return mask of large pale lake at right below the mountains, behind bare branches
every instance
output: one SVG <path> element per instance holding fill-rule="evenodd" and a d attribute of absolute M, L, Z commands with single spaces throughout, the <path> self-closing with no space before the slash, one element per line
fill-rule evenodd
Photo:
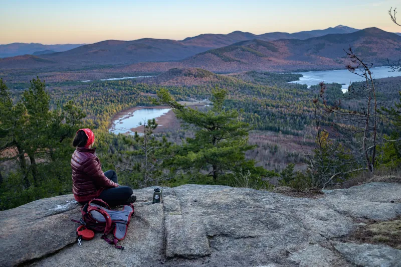
<path fill-rule="evenodd" d="M 387 67 L 371 68 L 370 71 L 372 72 L 374 79 L 401 76 L 401 72 L 390 72 L 390 69 Z M 322 81 L 325 83 L 336 82 L 341 84 L 343 92 L 347 91 L 350 83 L 363 81 L 362 77 L 353 74 L 346 69 L 297 72 L 297 74 L 302 74 L 303 77 L 299 78 L 299 81 L 292 81 L 290 83 L 306 84 L 309 88 L 311 85 L 317 85 Z"/>

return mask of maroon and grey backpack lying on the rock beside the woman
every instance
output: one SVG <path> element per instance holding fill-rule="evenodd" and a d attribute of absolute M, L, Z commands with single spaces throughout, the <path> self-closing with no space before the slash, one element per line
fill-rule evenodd
<path fill-rule="evenodd" d="M 128 225 L 134 213 L 133 204 L 125 205 L 123 210 L 111 210 L 103 200 L 92 199 L 81 208 L 81 212 L 81 220 L 72 221 L 80 223 L 93 231 L 103 232 L 102 239 L 109 244 L 114 244 L 118 249 L 124 249 L 123 246 L 118 246 L 117 242 L 123 240 L 127 234 Z M 112 230 L 114 230 L 113 241 L 107 238 L 107 235 Z"/>

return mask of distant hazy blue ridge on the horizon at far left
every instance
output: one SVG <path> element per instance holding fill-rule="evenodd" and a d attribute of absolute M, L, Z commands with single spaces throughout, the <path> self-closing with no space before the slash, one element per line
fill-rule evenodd
<path fill-rule="evenodd" d="M 66 44 L 66 45 L 42 45 L 42 44 L 25 44 L 13 43 L 8 45 L 0 45 L 0 58 L 14 57 L 20 55 L 32 55 L 38 51 L 52 50 L 55 52 L 64 52 L 82 44 Z"/>

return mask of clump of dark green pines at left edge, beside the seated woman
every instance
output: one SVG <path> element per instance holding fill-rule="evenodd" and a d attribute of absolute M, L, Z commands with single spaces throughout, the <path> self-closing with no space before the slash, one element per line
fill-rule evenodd
<path fill-rule="evenodd" d="M 85 114 L 73 102 L 51 109 L 45 89 L 33 79 L 14 103 L 0 79 L 0 162 L 20 166 L 3 175 L 0 209 L 71 192 L 71 139 Z"/>

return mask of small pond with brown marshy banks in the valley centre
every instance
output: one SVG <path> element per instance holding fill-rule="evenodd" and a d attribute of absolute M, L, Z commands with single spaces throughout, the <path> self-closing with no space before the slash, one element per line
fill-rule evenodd
<path fill-rule="evenodd" d="M 118 133 L 134 135 L 134 131 L 131 130 L 132 128 L 140 126 L 140 123 L 143 124 L 148 119 L 156 118 L 157 120 L 158 117 L 166 114 L 168 111 L 170 111 L 170 108 L 141 108 L 128 112 L 113 120 L 109 132 L 116 135 Z"/>

